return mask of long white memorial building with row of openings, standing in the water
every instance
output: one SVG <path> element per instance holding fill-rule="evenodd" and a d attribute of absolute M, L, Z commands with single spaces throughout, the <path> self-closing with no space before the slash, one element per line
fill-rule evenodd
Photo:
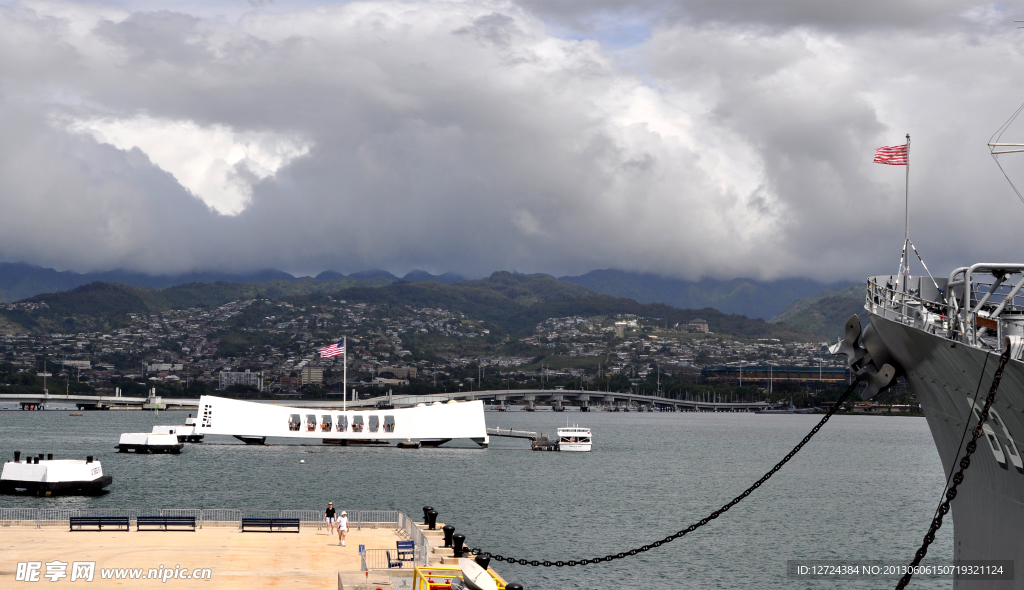
<path fill-rule="evenodd" d="M 263 444 L 268 436 L 335 445 L 419 440 L 424 447 L 469 438 L 484 449 L 490 441 L 480 401 L 434 402 L 389 410 L 329 410 L 203 395 L 199 411 L 199 434 L 234 436 L 250 445 Z"/>

